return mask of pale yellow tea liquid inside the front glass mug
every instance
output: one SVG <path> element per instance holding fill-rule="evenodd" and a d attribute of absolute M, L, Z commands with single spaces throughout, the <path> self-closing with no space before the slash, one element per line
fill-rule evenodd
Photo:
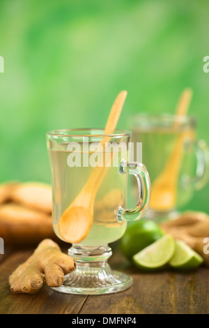
<path fill-rule="evenodd" d="M 68 166 L 69 155 L 72 152 L 67 151 L 66 144 L 59 144 L 56 149 L 49 150 L 49 157 L 52 162 L 54 177 L 52 181 L 53 186 L 53 226 L 54 231 L 60 239 L 59 234 L 59 219 L 61 215 L 68 208 L 68 206 L 75 200 L 77 195 L 82 191 L 90 176 L 93 167 L 83 166 L 85 156 L 89 160 L 92 153 L 82 152 L 76 156 L 81 156 L 81 166 Z M 123 151 L 118 151 L 112 154 L 117 162 L 114 167 L 108 168 L 107 174 L 102 181 L 102 184 L 95 197 L 93 209 L 93 224 L 87 237 L 79 242 L 83 246 L 101 246 L 109 244 L 117 239 L 120 239 L 125 232 L 127 223 L 118 223 L 116 214 L 118 207 L 126 208 L 127 199 L 127 174 L 119 172 L 119 166 L 125 154 Z"/>

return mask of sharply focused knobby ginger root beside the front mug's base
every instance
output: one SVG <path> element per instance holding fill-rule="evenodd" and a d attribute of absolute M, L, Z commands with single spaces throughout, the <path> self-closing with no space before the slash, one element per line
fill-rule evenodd
<path fill-rule="evenodd" d="M 49 287 L 59 287 L 64 275 L 73 270 L 74 260 L 62 253 L 54 241 L 44 239 L 30 258 L 10 275 L 10 290 L 14 293 L 35 294 L 44 282 Z"/>

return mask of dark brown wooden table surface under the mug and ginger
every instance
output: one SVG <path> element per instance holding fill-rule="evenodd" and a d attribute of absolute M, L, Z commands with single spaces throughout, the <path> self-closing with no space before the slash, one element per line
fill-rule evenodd
<path fill-rule="evenodd" d="M 66 251 L 66 250 L 63 250 Z M 31 251 L 6 250 L 0 255 L 0 313 L 141 314 L 209 313 L 209 269 L 193 273 L 162 271 L 141 273 L 114 251 L 109 264 L 130 274 L 134 283 L 124 292 L 110 295 L 69 295 L 44 286 L 35 295 L 13 295 L 8 276 Z"/>

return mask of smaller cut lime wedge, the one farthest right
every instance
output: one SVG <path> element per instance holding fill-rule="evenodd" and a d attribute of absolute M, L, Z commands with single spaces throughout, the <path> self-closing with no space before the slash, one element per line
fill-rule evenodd
<path fill-rule="evenodd" d="M 175 269 L 192 270 L 203 263 L 201 255 L 193 251 L 184 241 L 176 240 L 176 250 L 169 265 Z"/>

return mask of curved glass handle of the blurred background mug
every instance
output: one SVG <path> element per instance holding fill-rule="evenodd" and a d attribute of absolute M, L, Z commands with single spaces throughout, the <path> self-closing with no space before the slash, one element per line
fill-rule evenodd
<path fill-rule="evenodd" d="M 196 154 L 196 176 L 184 177 L 183 183 L 186 186 L 193 186 L 196 190 L 203 188 L 209 177 L 209 150 L 205 140 L 193 141 L 194 152 Z"/>

